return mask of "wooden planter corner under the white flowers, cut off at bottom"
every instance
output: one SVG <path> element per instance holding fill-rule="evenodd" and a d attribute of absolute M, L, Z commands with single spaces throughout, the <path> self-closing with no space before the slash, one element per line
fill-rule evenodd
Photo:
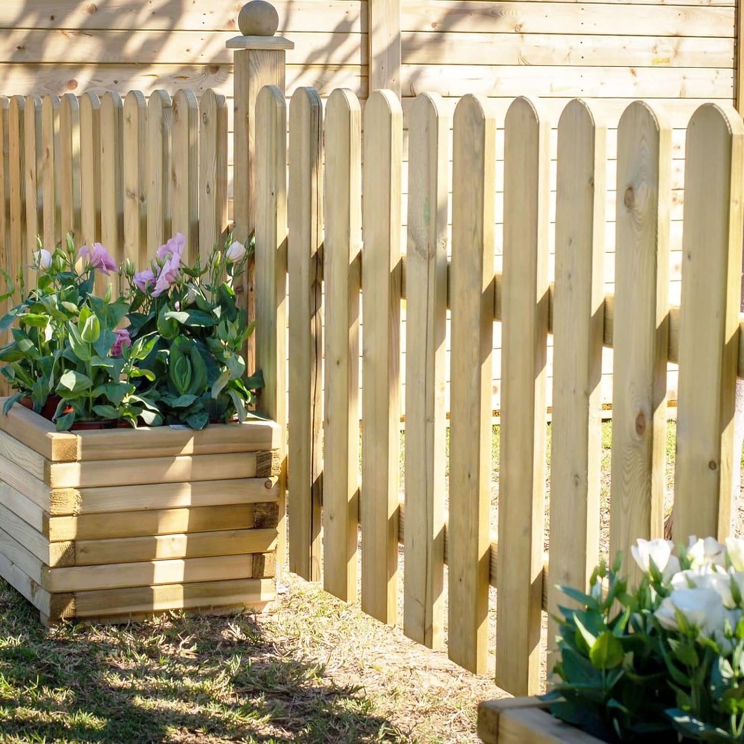
<path fill-rule="evenodd" d="M 486 744 L 606 744 L 554 718 L 534 697 L 481 702 L 478 737 Z"/>

